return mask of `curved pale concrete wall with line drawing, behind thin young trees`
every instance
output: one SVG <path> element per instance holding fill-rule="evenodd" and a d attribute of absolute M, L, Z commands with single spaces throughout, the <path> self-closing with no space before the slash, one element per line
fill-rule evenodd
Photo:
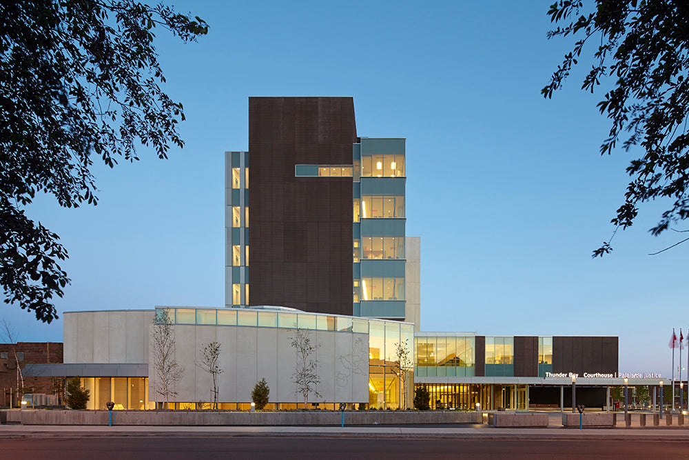
<path fill-rule="evenodd" d="M 154 326 L 149 326 L 153 328 Z M 369 399 L 369 336 L 352 332 L 310 330 L 318 344 L 320 397 L 311 394 L 309 402 L 367 402 Z M 197 366 L 200 350 L 207 343 L 220 343 L 218 401 L 250 402 L 256 382 L 265 378 L 271 403 L 300 403 L 292 375 L 296 370 L 296 351 L 290 344 L 294 330 L 242 326 L 174 326 L 175 357 L 185 368 L 171 401 L 209 401 L 212 378 Z M 156 372 L 149 361 L 149 394 L 156 394 Z M 159 398 L 160 399 L 160 398 Z"/>

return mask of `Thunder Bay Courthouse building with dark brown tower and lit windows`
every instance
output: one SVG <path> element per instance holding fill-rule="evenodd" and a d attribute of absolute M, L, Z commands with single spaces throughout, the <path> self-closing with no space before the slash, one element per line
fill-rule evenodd
<path fill-rule="evenodd" d="M 582 398 L 604 404 L 621 379 L 583 376 L 617 377 L 617 337 L 420 332 L 406 154 L 405 139 L 358 135 L 351 97 L 249 98 L 249 149 L 225 153 L 225 306 L 156 307 L 169 312 L 185 368 L 172 408 L 211 399 L 210 376 L 196 366 L 210 342 L 221 346 L 222 408 L 248 408 L 262 378 L 270 408 L 295 408 L 298 329 L 318 345 L 309 402 L 319 408 L 410 408 L 414 386 L 451 409 L 562 403 L 571 381 L 546 372 L 579 374 L 590 388 Z M 154 317 L 153 309 L 67 312 L 64 364 L 39 371 L 80 376 L 91 408 L 153 408 L 162 401 Z"/>

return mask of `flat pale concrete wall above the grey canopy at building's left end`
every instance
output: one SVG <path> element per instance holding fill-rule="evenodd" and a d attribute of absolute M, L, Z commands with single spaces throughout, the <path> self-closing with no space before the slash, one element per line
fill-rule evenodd
<path fill-rule="evenodd" d="M 147 363 L 154 310 L 65 312 L 65 363 Z"/>

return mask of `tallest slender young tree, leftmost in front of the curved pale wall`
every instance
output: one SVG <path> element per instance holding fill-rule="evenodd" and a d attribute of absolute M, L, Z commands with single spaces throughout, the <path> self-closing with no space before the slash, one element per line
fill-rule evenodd
<path fill-rule="evenodd" d="M 152 329 L 154 388 L 167 408 L 170 397 L 177 394 L 174 385 L 184 374 L 184 368 L 177 364 L 174 356 L 174 325 L 167 310 L 156 310 Z"/>

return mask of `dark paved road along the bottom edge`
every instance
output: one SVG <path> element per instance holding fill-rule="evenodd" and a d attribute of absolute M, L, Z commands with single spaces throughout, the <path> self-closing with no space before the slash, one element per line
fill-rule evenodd
<path fill-rule="evenodd" d="M 342 439 L 298 437 L 37 437 L 0 439 L 14 459 L 654 459 L 686 458 L 689 441 Z"/>

